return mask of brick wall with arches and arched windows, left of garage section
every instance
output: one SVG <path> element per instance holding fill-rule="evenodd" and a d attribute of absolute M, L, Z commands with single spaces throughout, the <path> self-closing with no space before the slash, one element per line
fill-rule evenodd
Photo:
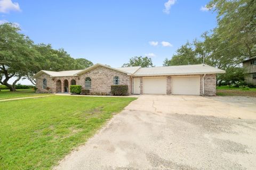
<path fill-rule="evenodd" d="M 100 69 L 100 71 L 99 71 Z M 85 78 L 91 78 L 91 92 L 104 92 L 109 93 L 111 89 L 111 85 L 114 84 L 114 77 L 119 77 L 119 84 L 128 85 L 128 92 L 131 94 L 131 77 L 123 72 L 118 72 L 112 69 L 108 69 L 107 67 L 96 67 L 95 69 L 85 72 L 79 76 L 71 76 L 71 77 L 50 77 L 47 74 L 42 74 L 36 79 L 36 87 L 38 88 L 38 92 L 65 92 L 65 81 L 68 84 L 67 88 L 69 92 L 71 80 L 75 80 L 77 85 L 81 85 L 82 89 L 85 88 Z M 47 80 L 47 87 L 49 90 L 43 89 L 43 79 Z"/>

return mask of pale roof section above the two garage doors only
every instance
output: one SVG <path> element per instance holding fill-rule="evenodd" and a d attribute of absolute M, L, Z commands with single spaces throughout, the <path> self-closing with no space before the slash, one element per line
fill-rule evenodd
<path fill-rule="evenodd" d="M 149 75 L 186 75 L 186 74 L 213 74 L 225 73 L 224 70 L 203 64 L 178 65 L 163 67 L 144 67 L 134 73 L 135 76 Z"/>

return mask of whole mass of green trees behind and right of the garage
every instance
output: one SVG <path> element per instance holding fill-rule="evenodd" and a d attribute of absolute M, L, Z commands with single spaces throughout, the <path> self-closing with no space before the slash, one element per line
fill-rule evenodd
<path fill-rule="evenodd" d="M 241 81 L 242 61 L 256 55 L 256 2 L 212 0 L 207 7 L 217 12 L 217 27 L 182 45 L 163 65 L 200 64 L 204 58 L 206 64 L 226 70 L 217 77 L 220 83 Z"/>

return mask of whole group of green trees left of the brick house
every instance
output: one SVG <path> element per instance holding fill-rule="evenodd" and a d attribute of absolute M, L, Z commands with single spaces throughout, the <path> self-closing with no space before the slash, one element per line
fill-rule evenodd
<path fill-rule="evenodd" d="M 0 83 L 15 91 L 21 79 L 32 78 L 40 70 L 80 70 L 93 65 L 85 58 L 73 58 L 63 48 L 53 49 L 50 44 L 34 44 L 20 28 L 12 23 L 0 24 Z M 15 78 L 10 84 L 8 81 Z"/>

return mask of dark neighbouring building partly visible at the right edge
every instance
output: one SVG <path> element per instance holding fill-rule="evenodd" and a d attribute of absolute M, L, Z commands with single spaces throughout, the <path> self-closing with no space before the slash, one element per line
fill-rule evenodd
<path fill-rule="evenodd" d="M 256 56 L 243 61 L 243 68 L 245 73 L 245 82 L 256 86 Z"/>

